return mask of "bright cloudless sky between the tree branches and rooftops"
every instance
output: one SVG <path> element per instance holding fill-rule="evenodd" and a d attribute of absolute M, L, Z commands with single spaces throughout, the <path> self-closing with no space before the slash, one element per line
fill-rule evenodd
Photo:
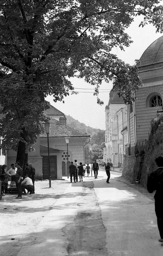
<path fill-rule="evenodd" d="M 136 17 L 135 21 L 126 29 L 126 33 L 133 41 L 130 47 L 126 47 L 125 51 L 121 51 L 119 48 L 115 48 L 113 51 L 119 59 L 130 65 L 134 65 L 134 60 L 140 59 L 146 48 L 163 35 L 156 33 L 156 28 L 151 24 L 143 28 L 139 27 L 140 22 L 141 17 Z M 97 97 L 93 95 L 93 86 L 86 83 L 84 79 L 71 78 L 71 82 L 74 90 L 79 92 L 78 94 L 70 94 L 65 97 L 64 103 L 59 101 L 55 103 L 52 96 L 48 96 L 46 100 L 65 115 L 70 115 L 87 126 L 105 130 L 105 106 L 109 101 L 109 92 L 113 87 L 112 82 L 103 82 L 100 86 L 99 98 L 104 102 L 101 106 L 97 103 Z"/>

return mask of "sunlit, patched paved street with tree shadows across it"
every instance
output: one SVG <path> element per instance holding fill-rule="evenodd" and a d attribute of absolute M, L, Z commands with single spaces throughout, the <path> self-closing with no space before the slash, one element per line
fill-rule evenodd
<path fill-rule="evenodd" d="M 100 168 L 98 179 L 65 177 L 51 188 L 38 181 L 36 194 L 19 200 L 7 194 L 0 201 L 1 256 L 162 255 L 154 201 L 117 171 L 110 184 Z"/>

